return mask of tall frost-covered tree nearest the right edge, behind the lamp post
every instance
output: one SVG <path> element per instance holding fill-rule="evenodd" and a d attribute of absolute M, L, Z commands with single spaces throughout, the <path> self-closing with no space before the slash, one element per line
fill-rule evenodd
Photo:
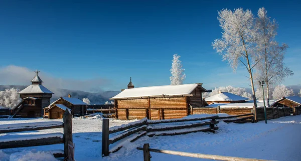
<path fill-rule="evenodd" d="M 256 65 L 256 71 L 258 72 L 258 77 L 256 78 L 258 81 L 263 80 L 266 84 L 265 92 L 267 105 L 269 107 L 269 99 L 271 96 L 269 93 L 270 85 L 281 83 L 285 77 L 292 76 L 293 72 L 285 66 L 283 62 L 284 54 L 288 46 L 286 44 L 279 46 L 275 41 L 275 36 L 277 35 L 276 30 L 278 29 L 276 20 L 271 20 L 271 18 L 267 16 L 267 11 L 264 8 L 258 10 L 257 16 L 255 21 L 256 50 L 258 57 L 262 59 L 260 59 Z"/>

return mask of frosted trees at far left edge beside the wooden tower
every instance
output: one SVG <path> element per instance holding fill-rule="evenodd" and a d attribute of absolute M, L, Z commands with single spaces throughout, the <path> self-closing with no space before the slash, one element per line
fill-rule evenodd
<path fill-rule="evenodd" d="M 6 89 L 5 91 L 0 91 L 0 106 L 4 106 L 7 108 L 13 108 L 18 103 L 21 102 L 21 98 L 19 97 L 20 89 L 11 88 Z"/>

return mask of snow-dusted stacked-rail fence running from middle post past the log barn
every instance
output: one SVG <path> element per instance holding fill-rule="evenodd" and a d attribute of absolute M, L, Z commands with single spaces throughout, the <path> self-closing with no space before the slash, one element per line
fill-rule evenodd
<path fill-rule="evenodd" d="M 109 128 L 109 119 L 103 119 L 102 122 L 102 155 L 108 156 L 109 153 L 118 151 L 125 142 L 120 142 L 115 147 L 109 150 L 109 145 L 113 144 L 125 137 L 128 137 L 129 142 L 137 140 L 143 135 L 152 137 L 154 135 L 179 135 L 198 131 L 215 132 L 218 126 L 218 116 L 202 117 L 202 118 L 180 118 L 180 119 L 166 119 L 166 120 L 148 120 L 143 118 L 136 122 L 131 122 L 126 125 Z M 204 121 L 205 120 L 205 121 Z M 193 123 L 166 125 L 166 123 L 195 121 Z M 209 125 L 209 127 L 204 127 Z M 185 130 L 183 130 L 185 129 Z M 112 137 L 109 134 L 117 133 Z"/>

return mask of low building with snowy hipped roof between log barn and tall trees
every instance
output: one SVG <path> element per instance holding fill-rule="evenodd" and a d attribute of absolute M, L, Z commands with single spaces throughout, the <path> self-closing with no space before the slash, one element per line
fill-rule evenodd
<path fill-rule="evenodd" d="M 236 94 L 232 94 L 229 92 L 222 92 L 219 91 L 218 94 L 205 98 L 205 101 L 210 104 L 210 103 L 244 103 L 246 100 L 249 98 L 246 97 L 241 97 Z"/>

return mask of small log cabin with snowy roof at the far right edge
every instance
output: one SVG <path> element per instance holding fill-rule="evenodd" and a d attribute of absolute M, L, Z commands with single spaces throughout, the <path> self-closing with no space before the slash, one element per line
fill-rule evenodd
<path fill-rule="evenodd" d="M 272 107 L 297 107 L 301 105 L 301 97 L 298 96 L 289 96 L 282 97 L 281 99 L 275 101 L 271 104 Z"/>

